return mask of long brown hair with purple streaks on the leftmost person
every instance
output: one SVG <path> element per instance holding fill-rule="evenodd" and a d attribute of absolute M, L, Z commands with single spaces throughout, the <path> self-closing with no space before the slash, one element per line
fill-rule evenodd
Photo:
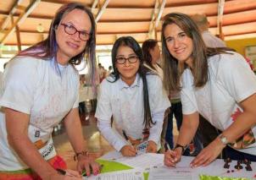
<path fill-rule="evenodd" d="M 28 49 L 25 49 L 22 52 L 19 52 L 17 56 L 31 56 L 45 60 L 55 57 L 54 59 L 56 61 L 58 44 L 56 41 L 55 29 L 58 27 L 64 16 L 69 14 L 74 9 L 80 9 L 88 14 L 91 20 L 92 29 L 90 32 L 90 38 L 86 42 L 86 48 L 84 51 L 75 57 L 72 57 L 69 63 L 72 65 L 79 65 L 82 60 L 85 58 L 88 59 L 86 63 L 89 63 L 90 74 L 92 74 L 93 77 L 95 71 L 96 24 L 92 12 L 81 3 L 68 3 L 60 7 L 53 18 L 47 39 L 29 47 Z"/>

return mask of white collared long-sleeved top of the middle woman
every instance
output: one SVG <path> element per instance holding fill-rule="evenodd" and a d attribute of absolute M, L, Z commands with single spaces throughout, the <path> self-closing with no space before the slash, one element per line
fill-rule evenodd
<path fill-rule="evenodd" d="M 111 77 L 108 77 L 113 81 Z M 136 74 L 134 83 L 126 85 L 122 79 L 110 83 L 104 79 L 100 85 L 97 99 L 97 127 L 104 138 L 120 150 L 127 142 L 122 137 L 122 130 L 132 139 L 142 139 L 144 129 L 144 106 L 143 106 L 143 84 L 142 78 Z M 163 90 L 162 81 L 158 75 L 147 75 L 147 89 L 149 105 L 153 122 L 149 129 L 148 140 L 159 144 L 162 131 L 164 111 L 170 107 L 170 101 Z M 115 129 L 110 127 L 110 117 L 114 118 Z M 116 131 L 117 130 L 117 131 Z"/>

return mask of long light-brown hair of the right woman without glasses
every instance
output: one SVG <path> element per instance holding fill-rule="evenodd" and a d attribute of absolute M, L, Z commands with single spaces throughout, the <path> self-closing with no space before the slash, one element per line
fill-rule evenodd
<path fill-rule="evenodd" d="M 164 38 L 164 30 L 167 25 L 175 24 L 183 30 L 186 35 L 192 39 L 192 74 L 194 78 L 194 85 L 196 87 L 203 87 L 209 79 L 209 67 L 207 59 L 220 53 L 228 53 L 226 51 L 233 51 L 231 48 L 210 48 L 205 46 L 203 38 L 198 30 L 198 26 L 186 14 L 171 13 L 164 16 L 162 26 L 162 56 L 164 61 L 164 89 L 165 90 L 181 90 L 180 79 L 182 74 L 182 65 L 173 57 L 166 45 Z M 186 66 L 186 65 L 184 65 Z M 185 67 L 186 68 L 186 67 Z"/>

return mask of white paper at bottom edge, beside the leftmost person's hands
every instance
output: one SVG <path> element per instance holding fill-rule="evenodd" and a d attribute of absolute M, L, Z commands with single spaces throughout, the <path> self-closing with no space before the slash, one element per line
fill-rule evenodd
<path fill-rule="evenodd" d="M 125 170 L 120 172 L 108 172 L 97 176 L 84 177 L 85 180 L 143 180 L 143 173 L 135 170 Z"/>

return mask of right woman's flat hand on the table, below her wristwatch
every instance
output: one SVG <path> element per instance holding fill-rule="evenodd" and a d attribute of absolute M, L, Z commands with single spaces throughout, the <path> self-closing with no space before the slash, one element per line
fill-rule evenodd
<path fill-rule="evenodd" d="M 225 145 L 223 145 L 220 139 L 217 137 L 206 148 L 201 150 L 201 152 L 191 162 L 191 166 L 197 167 L 209 165 L 209 163 L 214 161 L 216 157 L 220 155 L 224 148 Z"/>

